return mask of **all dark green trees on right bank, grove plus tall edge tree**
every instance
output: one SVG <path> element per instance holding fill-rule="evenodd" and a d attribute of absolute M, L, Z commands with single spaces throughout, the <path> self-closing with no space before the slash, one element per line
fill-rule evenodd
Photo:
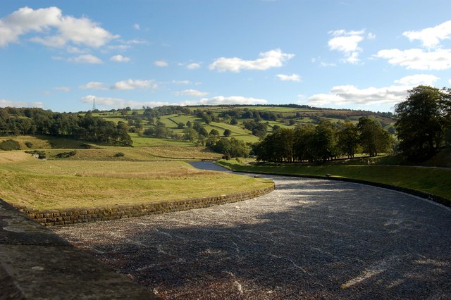
<path fill-rule="evenodd" d="M 391 148 L 407 163 L 419 163 L 451 149 L 451 89 L 415 87 L 395 106 L 395 117 L 396 148 L 378 121 L 362 117 L 357 125 L 321 120 L 316 127 L 278 129 L 255 145 L 254 153 L 259 161 L 316 162 L 357 153 L 377 156 Z"/>

